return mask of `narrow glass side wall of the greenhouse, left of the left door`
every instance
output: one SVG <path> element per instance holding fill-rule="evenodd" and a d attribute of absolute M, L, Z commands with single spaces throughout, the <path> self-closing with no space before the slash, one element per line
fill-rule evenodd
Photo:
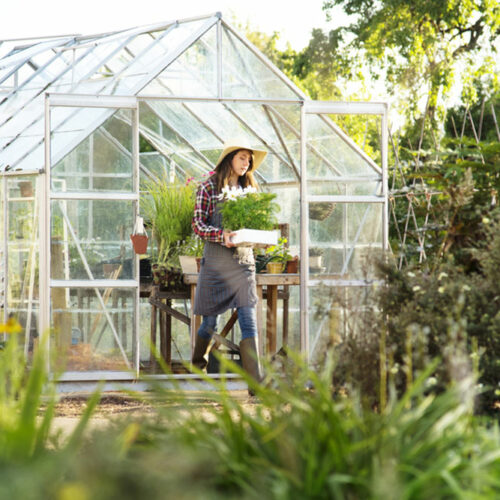
<path fill-rule="evenodd" d="M 17 315 L 32 346 L 37 335 L 38 312 L 38 212 L 36 178 L 6 179 L 8 192 L 7 308 Z"/>

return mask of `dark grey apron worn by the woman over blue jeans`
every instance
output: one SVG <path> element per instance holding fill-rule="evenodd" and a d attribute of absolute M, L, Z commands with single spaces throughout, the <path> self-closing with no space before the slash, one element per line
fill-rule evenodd
<path fill-rule="evenodd" d="M 222 227 L 219 204 L 210 217 L 209 224 Z M 256 304 L 252 249 L 228 248 L 220 243 L 205 241 L 194 299 L 194 314 L 216 316 L 228 309 Z"/>

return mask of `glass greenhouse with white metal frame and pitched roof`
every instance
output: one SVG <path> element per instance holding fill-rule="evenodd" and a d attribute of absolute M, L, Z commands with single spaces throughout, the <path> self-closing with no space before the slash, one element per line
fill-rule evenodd
<path fill-rule="evenodd" d="M 343 130 L 349 115 L 377 121 L 377 162 Z M 275 345 L 261 348 L 272 355 L 286 336 L 314 360 L 349 330 L 388 248 L 386 105 L 309 100 L 219 13 L 0 41 L 0 308 L 27 355 L 51 331 L 63 378 L 147 370 L 157 325 L 130 241 L 141 199 L 151 182 L 202 178 L 234 136 L 268 151 L 257 180 L 300 262 L 283 282 L 287 331 L 278 307 Z M 329 307 L 330 292 L 344 305 Z M 190 317 L 189 299 L 170 304 Z M 189 362 L 192 328 L 174 322 L 173 357 Z"/>

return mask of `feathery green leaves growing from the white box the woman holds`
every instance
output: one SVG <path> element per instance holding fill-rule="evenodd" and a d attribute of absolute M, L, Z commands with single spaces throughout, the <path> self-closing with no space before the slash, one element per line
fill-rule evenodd
<path fill-rule="evenodd" d="M 224 229 L 274 229 L 280 209 L 273 201 L 275 198 L 275 193 L 258 192 L 225 200 L 221 208 Z"/>

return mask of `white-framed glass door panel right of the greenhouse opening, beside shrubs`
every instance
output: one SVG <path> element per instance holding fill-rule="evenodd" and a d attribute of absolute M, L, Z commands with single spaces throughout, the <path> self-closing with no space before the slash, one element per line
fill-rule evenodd
<path fill-rule="evenodd" d="M 387 106 L 306 101 L 301 128 L 301 351 L 313 361 L 354 331 L 388 248 Z"/>

